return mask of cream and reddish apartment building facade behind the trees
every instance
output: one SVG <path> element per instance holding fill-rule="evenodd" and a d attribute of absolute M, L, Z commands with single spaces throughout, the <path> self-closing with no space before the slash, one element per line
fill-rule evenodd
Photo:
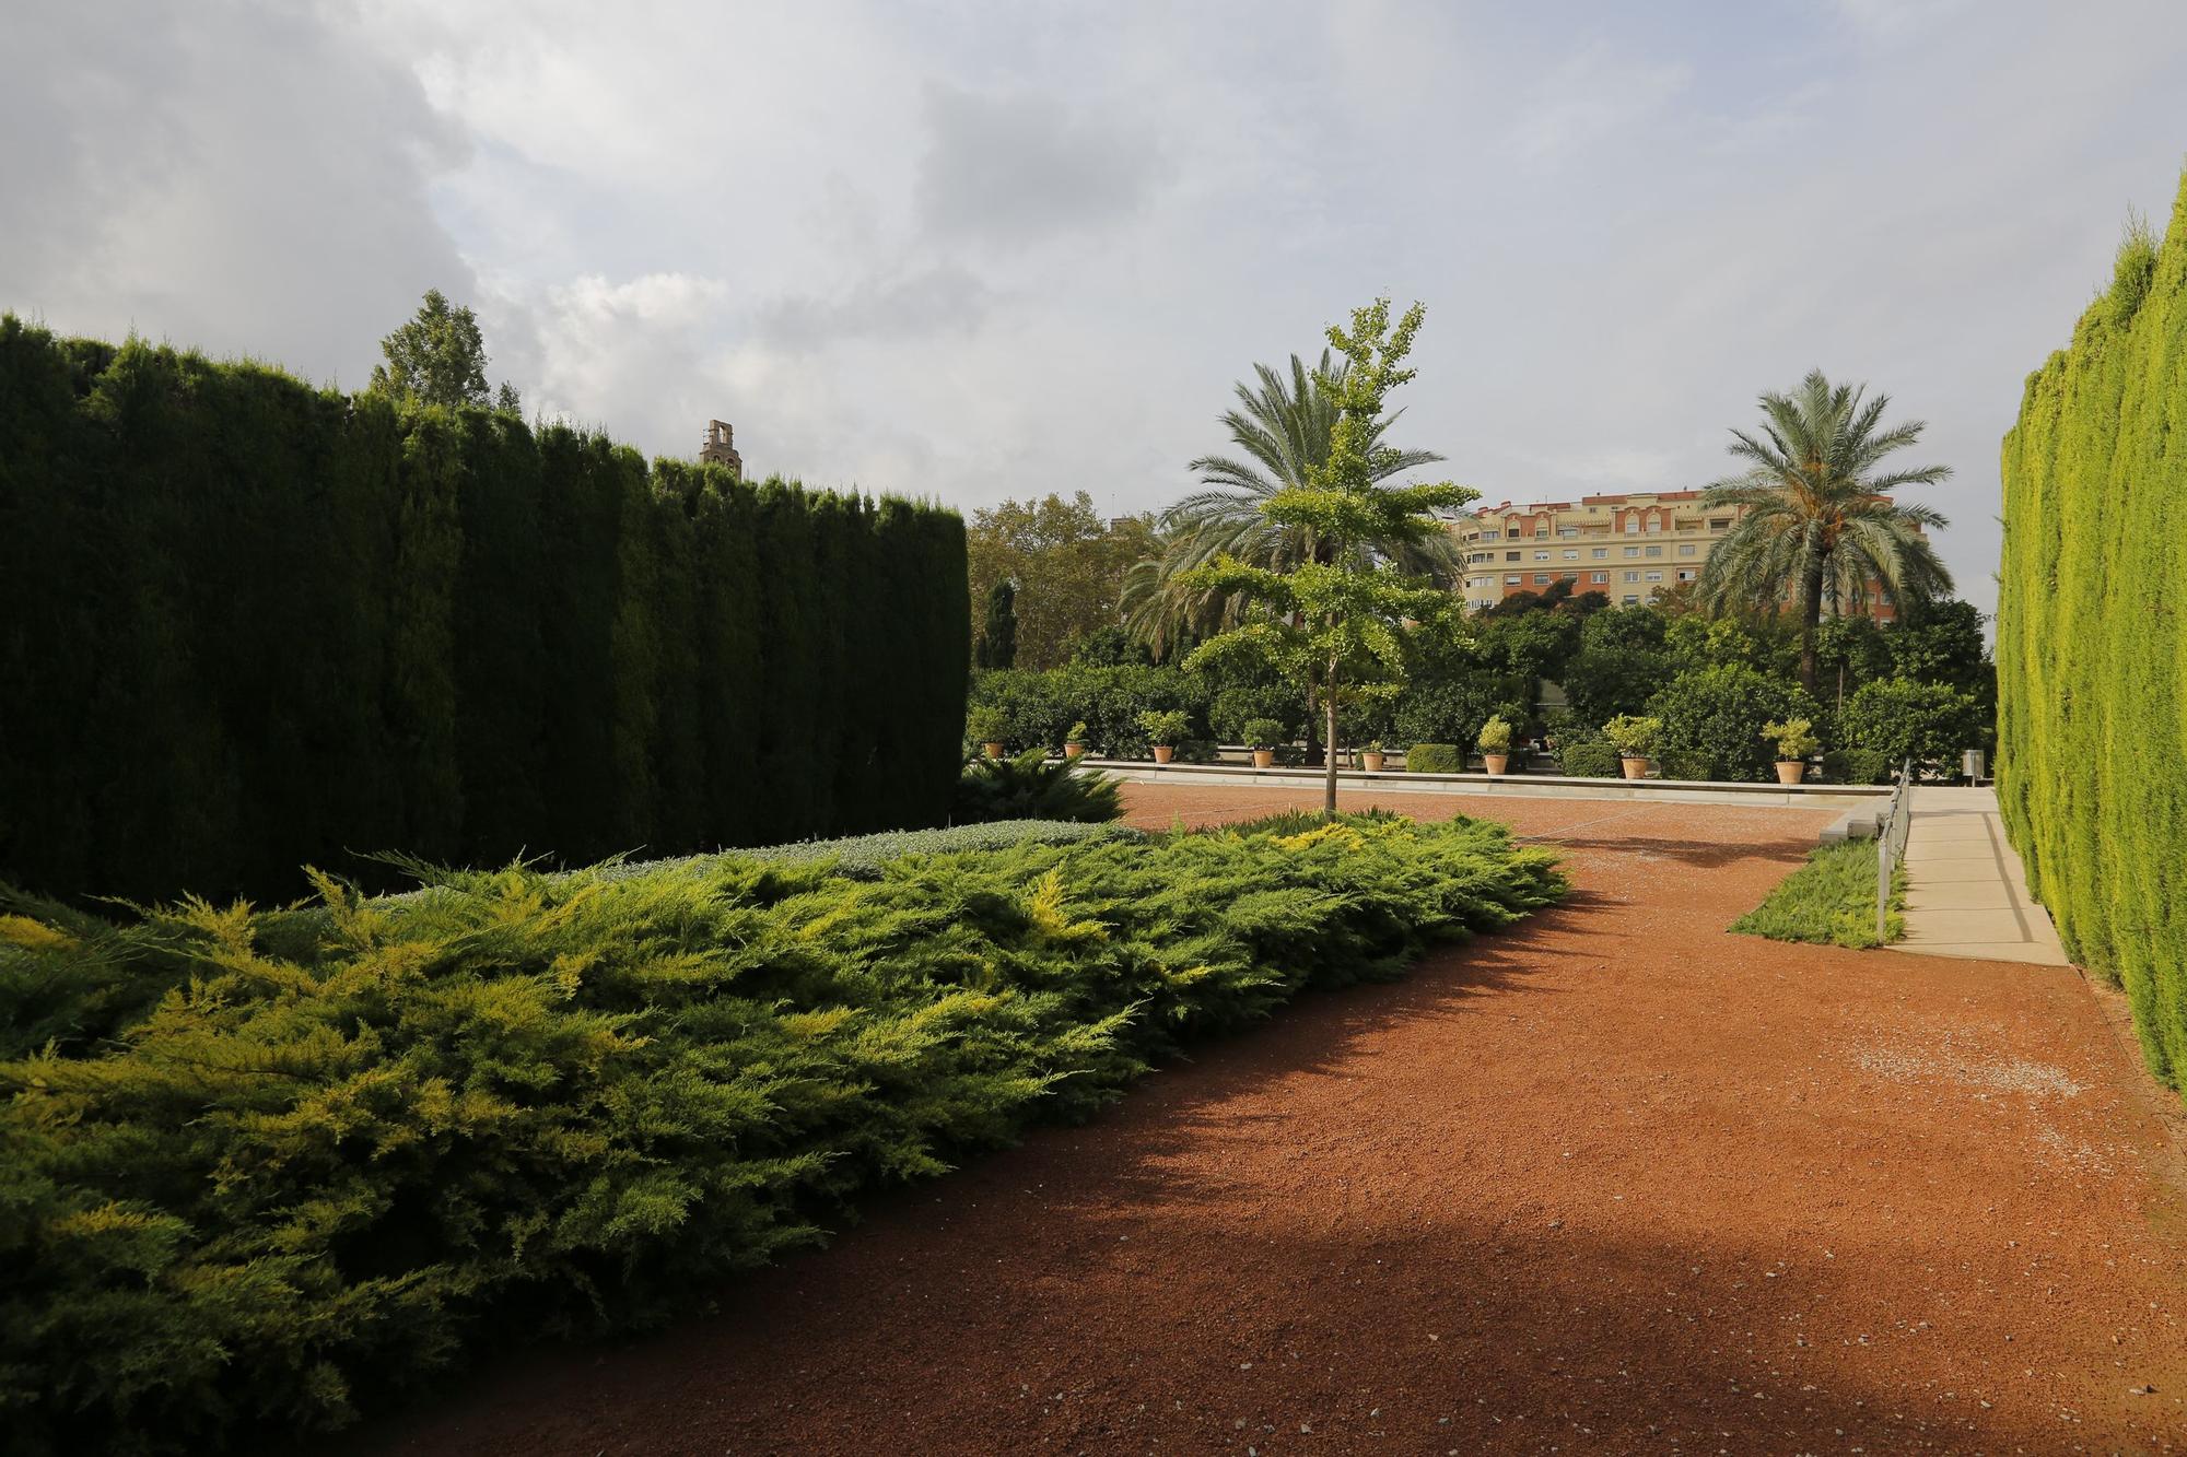
<path fill-rule="evenodd" d="M 1736 518 L 1739 508 L 1701 510 L 1699 490 L 1481 505 L 1452 525 L 1465 553 L 1465 606 L 1481 610 L 1557 580 L 1575 597 L 1603 593 L 1612 606 L 1640 606 L 1697 582 Z M 1894 617 L 1885 602 L 1872 602 L 1870 615 Z"/>

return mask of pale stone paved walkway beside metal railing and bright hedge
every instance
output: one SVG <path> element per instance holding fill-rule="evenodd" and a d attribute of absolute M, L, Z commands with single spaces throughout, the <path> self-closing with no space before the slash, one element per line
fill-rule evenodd
<path fill-rule="evenodd" d="M 1916 788 L 1905 864 L 1907 934 L 1894 952 L 2073 965 L 2027 895 L 1995 790 Z"/>

